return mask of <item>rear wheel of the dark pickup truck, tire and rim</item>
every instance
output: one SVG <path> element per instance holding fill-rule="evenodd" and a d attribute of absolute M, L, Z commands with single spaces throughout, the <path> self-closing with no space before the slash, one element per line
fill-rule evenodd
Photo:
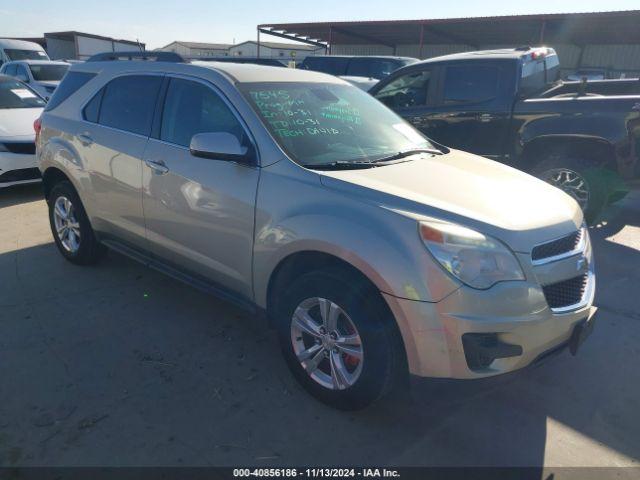
<path fill-rule="evenodd" d="M 588 224 L 596 222 L 608 204 L 613 172 L 596 166 L 593 161 L 551 155 L 536 165 L 531 173 L 573 197 L 582 208 Z M 581 187 L 581 184 L 584 187 Z M 586 198 L 582 192 L 578 192 L 582 189 Z"/>

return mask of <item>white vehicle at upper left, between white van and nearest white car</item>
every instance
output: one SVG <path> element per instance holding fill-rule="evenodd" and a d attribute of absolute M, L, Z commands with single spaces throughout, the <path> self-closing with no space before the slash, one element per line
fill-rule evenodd
<path fill-rule="evenodd" d="M 53 60 L 19 60 L 2 65 L 0 74 L 16 77 L 49 100 L 69 66 L 67 62 Z"/>

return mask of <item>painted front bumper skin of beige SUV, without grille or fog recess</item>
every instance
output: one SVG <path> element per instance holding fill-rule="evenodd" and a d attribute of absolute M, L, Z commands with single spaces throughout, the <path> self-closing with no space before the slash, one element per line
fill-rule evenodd
<path fill-rule="evenodd" d="M 521 312 L 513 315 L 512 307 L 519 303 L 518 299 L 523 300 L 521 292 L 511 297 L 510 293 L 516 292 L 509 292 L 509 285 L 496 287 L 495 291 L 484 292 L 463 287 L 438 303 L 383 294 L 400 325 L 410 373 L 471 379 L 518 370 L 567 344 L 576 326 L 596 312 L 596 307 L 589 302 L 578 310 L 555 314 L 544 297 L 542 302 L 531 298 L 537 297 L 533 290 L 526 299 L 532 308 L 522 311 L 520 303 Z M 495 333 L 500 342 L 522 347 L 522 353 L 497 358 L 487 367 L 472 369 L 463 345 L 463 335 L 469 333 Z"/>

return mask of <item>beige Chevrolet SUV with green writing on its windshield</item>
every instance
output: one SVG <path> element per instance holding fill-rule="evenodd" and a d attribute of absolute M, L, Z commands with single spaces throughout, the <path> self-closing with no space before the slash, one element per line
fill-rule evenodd
<path fill-rule="evenodd" d="M 339 408 L 409 372 L 575 353 L 594 325 L 575 200 L 330 75 L 89 60 L 47 105 L 37 151 L 63 257 L 106 246 L 265 314 L 294 376 Z"/>

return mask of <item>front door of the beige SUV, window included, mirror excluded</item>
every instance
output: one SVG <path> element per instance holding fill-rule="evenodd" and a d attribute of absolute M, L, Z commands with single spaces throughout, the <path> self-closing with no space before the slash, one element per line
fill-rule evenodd
<path fill-rule="evenodd" d="M 193 135 L 227 132 L 249 142 L 237 114 L 204 82 L 169 80 L 157 138 L 145 152 L 143 207 L 152 253 L 252 298 L 251 265 L 260 170 L 194 157 Z"/>

